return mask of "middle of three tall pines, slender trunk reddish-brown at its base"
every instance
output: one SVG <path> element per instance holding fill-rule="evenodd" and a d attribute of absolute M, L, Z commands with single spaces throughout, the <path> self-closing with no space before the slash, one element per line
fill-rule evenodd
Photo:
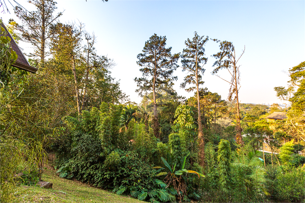
<path fill-rule="evenodd" d="M 186 87 L 186 84 L 192 84 L 193 87 L 185 89 L 187 92 L 191 92 L 196 89 L 197 91 L 197 104 L 198 104 L 198 141 L 199 141 L 199 158 L 200 165 L 204 165 L 204 137 L 202 131 L 202 121 L 201 114 L 203 114 L 204 119 L 204 108 L 202 106 L 202 113 L 200 107 L 200 95 L 199 92 L 202 88 L 199 88 L 199 85 L 202 85 L 202 75 L 205 71 L 203 66 L 207 62 L 205 55 L 205 43 L 209 40 L 209 37 L 199 36 L 197 32 L 194 33 L 192 41 L 188 38 L 185 41 L 186 48 L 183 49 L 181 55 L 182 71 L 188 71 L 189 75 L 184 78 L 184 82 L 181 84 L 182 88 Z M 205 124 L 205 122 L 204 122 Z"/>

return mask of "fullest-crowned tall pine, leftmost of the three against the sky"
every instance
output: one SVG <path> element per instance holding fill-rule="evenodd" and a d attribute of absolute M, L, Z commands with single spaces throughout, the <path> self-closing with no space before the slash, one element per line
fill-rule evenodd
<path fill-rule="evenodd" d="M 171 54 L 171 47 L 166 48 L 166 37 L 152 35 L 148 41 L 145 42 L 145 46 L 142 53 L 138 54 L 137 64 L 141 67 L 140 71 L 142 76 L 135 78 L 139 89 L 136 92 L 140 96 L 143 93 L 152 92 L 153 95 L 153 118 L 152 128 L 154 135 L 159 138 L 159 122 L 157 119 L 157 102 L 156 92 L 159 89 L 163 89 L 170 95 L 171 87 L 174 85 L 173 81 L 177 80 L 177 76 L 173 76 L 173 71 L 177 69 L 178 54 Z"/>

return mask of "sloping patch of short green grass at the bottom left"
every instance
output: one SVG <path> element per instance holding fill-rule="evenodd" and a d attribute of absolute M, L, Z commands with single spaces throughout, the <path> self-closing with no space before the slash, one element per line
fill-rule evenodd
<path fill-rule="evenodd" d="M 120 196 L 79 181 L 60 178 L 54 169 L 45 169 L 42 180 L 52 182 L 52 189 L 19 186 L 15 202 L 144 202 Z"/>

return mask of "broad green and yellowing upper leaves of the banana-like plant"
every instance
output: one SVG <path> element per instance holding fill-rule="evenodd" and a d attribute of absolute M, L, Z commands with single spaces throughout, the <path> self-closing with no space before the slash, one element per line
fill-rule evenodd
<path fill-rule="evenodd" d="M 189 155 L 189 153 L 188 153 L 188 155 Z M 200 176 L 204 177 L 204 175 L 201 174 L 201 173 L 199 173 L 199 172 L 196 172 L 196 171 L 193 171 L 193 170 L 187 170 L 187 169 L 184 168 L 184 167 L 185 167 L 185 160 L 186 160 L 186 157 L 187 157 L 188 155 L 184 156 L 184 157 L 181 159 L 181 167 L 180 167 L 179 170 L 176 170 L 176 171 L 175 171 L 175 169 L 176 169 L 176 164 L 177 164 L 177 163 L 175 163 L 175 165 L 173 166 L 173 168 L 171 168 L 171 167 L 170 167 L 170 164 L 165 160 L 165 158 L 161 157 L 162 162 L 163 162 L 164 165 L 167 167 L 167 169 L 169 169 L 169 172 L 160 172 L 160 173 L 158 173 L 156 176 L 163 176 L 163 175 L 167 175 L 167 174 L 170 174 L 170 176 L 181 176 L 181 175 L 184 174 L 184 173 L 193 173 L 193 174 L 198 175 L 199 178 L 200 178 Z M 159 172 L 159 171 L 165 169 L 165 168 L 163 168 L 163 167 L 161 167 L 161 166 L 156 166 L 156 167 L 153 167 L 153 168 L 158 169 L 157 172 Z"/>

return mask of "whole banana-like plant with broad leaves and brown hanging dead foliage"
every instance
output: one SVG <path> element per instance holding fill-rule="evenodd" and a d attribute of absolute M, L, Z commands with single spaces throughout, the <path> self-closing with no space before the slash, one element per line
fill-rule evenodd
<path fill-rule="evenodd" d="M 188 153 L 188 155 L 189 154 L 190 153 Z M 177 190 L 178 198 L 180 200 L 183 199 L 184 195 L 186 195 L 186 193 L 187 193 L 187 191 L 186 191 L 187 187 L 184 182 L 184 179 L 182 178 L 183 174 L 193 173 L 193 174 L 198 175 L 199 178 L 200 178 L 200 176 L 204 177 L 204 175 L 199 172 L 196 172 L 193 170 L 187 170 L 184 168 L 185 160 L 188 155 L 184 156 L 181 159 L 181 165 L 180 165 L 181 167 L 179 170 L 175 171 L 177 163 L 175 163 L 173 167 L 170 167 L 170 163 L 168 163 L 163 157 L 161 157 L 161 160 L 164 163 L 164 165 L 166 166 L 166 168 L 168 169 L 168 172 L 160 172 L 161 170 L 165 169 L 161 166 L 154 167 L 155 169 L 158 169 L 157 172 L 160 172 L 156 176 L 167 175 L 164 178 L 165 182 L 167 183 L 167 187 L 172 186 L 175 190 Z"/>

